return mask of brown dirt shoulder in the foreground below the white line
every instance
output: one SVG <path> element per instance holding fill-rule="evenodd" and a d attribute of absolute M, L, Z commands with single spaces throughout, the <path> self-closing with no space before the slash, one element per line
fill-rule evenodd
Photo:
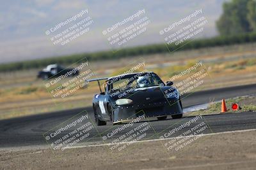
<path fill-rule="evenodd" d="M 0 169 L 255 169 L 256 131 L 202 136 L 179 151 L 167 141 L 109 146 L 0 152 Z"/>

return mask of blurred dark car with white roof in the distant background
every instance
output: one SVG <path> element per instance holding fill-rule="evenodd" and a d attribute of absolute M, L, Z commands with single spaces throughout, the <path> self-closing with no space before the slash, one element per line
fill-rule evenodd
<path fill-rule="evenodd" d="M 51 64 L 45 67 L 42 71 L 39 71 L 37 78 L 47 80 L 48 78 L 54 78 L 57 76 L 65 75 L 67 73 L 68 76 L 77 76 L 79 71 L 73 68 L 64 68 L 58 64 Z"/>

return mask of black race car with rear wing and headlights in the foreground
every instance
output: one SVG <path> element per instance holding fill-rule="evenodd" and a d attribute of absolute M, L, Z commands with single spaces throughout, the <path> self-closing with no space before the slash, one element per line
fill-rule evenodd
<path fill-rule="evenodd" d="M 105 92 L 100 88 L 104 83 Z M 122 74 L 110 78 L 96 78 L 100 94 L 93 97 L 93 111 L 97 125 L 118 124 L 135 118 L 157 117 L 158 120 L 182 118 L 182 103 L 172 81 L 164 82 L 153 72 Z"/>

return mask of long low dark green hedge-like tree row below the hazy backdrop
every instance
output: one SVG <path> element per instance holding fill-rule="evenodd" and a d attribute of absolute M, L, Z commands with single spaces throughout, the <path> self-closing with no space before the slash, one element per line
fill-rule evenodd
<path fill-rule="evenodd" d="M 189 49 L 197 49 L 204 48 L 209 46 L 223 46 L 223 45 L 233 45 L 239 43 L 250 43 L 256 42 L 256 32 L 246 33 L 246 34 L 237 34 L 234 36 L 217 36 L 215 38 L 209 39 L 195 39 L 189 43 L 184 43 L 180 45 L 168 45 L 166 48 L 165 44 L 158 45 L 147 45 L 147 46 L 136 46 L 133 48 L 124 48 L 119 50 L 118 52 L 113 53 L 112 51 L 107 52 L 95 52 L 95 53 L 83 53 L 80 55 L 68 55 L 64 57 L 52 57 L 48 59 L 39 59 L 39 60 L 28 60 L 24 62 L 13 62 L 8 64 L 0 65 L 0 72 L 2 71 L 13 71 L 20 69 L 31 69 L 38 67 L 45 67 L 48 64 L 58 63 L 68 66 L 70 63 L 75 63 L 85 57 L 92 60 L 108 60 L 108 59 L 119 59 L 124 57 L 132 57 L 138 55 L 154 54 L 154 53 L 167 53 L 173 52 L 176 50 L 189 50 Z M 184 46 L 183 46 L 184 45 Z"/>

